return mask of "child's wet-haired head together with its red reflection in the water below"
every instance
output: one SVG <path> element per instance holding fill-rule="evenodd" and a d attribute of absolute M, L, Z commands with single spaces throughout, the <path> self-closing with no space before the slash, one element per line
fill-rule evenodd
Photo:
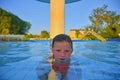
<path fill-rule="evenodd" d="M 73 51 L 73 43 L 68 35 L 57 35 L 52 42 L 53 62 L 52 68 L 56 72 L 62 74 L 62 79 L 65 78 L 66 72 L 70 64 L 70 56 Z"/>

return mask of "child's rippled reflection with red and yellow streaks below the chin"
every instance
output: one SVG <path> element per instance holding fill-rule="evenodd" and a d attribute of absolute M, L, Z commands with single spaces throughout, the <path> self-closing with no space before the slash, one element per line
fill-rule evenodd
<path fill-rule="evenodd" d="M 81 68 L 76 62 L 41 61 L 37 67 L 40 80 L 81 80 Z"/>

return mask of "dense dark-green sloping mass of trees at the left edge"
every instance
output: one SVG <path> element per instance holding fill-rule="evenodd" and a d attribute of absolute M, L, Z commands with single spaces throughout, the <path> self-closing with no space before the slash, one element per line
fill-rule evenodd
<path fill-rule="evenodd" d="M 0 8 L 0 34 L 26 34 L 30 27 L 29 22 Z M 8 31 L 6 31 L 7 29 Z"/>

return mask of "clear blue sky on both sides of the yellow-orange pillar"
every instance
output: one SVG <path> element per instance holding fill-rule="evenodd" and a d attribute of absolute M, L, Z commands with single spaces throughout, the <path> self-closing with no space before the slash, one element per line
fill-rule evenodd
<path fill-rule="evenodd" d="M 89 16 L 93 10 L 107 5 L 107 10 L 120 14 L 120 0 L 81 0 L 65 4 L 65 33 L 70 29 L 84 29 L 91 25 Z M 37 0 L 0 0 L 0 8 L 31 23 L 29 33 L 40 34 L 50 31 L 50 4 Z"/>

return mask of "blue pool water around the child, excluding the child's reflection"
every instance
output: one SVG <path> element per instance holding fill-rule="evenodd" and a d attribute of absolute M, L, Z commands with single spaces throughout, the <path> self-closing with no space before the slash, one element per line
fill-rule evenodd
<path fill-rule="evenodd" d="M 78 80 L 120 80 L 120 42 L 73 41 L 73 46 Z M 0 80 L 39 80 L 36 67 L 49 55 L 49 40 L 0 42 Z"/>

